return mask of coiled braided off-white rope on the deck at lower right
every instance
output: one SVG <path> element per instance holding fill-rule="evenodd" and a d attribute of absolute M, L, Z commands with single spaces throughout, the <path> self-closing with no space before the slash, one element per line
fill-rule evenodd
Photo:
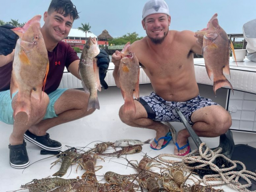
<path fill-rule="evenodd" d="M 211 150 L 209 149 L 208 146 L 206 146 L 206 150 L 203 153 L 202 152 L 202 147 L 206 146 L 205 143 L 201 143 L 201 145 L 199 146 L 199 150 L 194 150 L 191 153 L 181 157 L 179 155 L 173 155 L 173 154 L 161 154 L 158 156 L 160 161 L 166 162 L 166 163 L 174 163 L 177 161 L 173 161 L 173 160 L 167 160 L 167 159 L 163 159 L 163 157 L 174 157 L 174 158 L 181 158 L 182 162 L 186 163 L 186 164 L 190 164 L 190 163 L 202 163 L 201 165 L 195 166 L 195 167 L 189 167 L 185 165 L 186 169 L 200 169 L 202 167 L 205 167 L 207 165 L 210 166 L 211 170 L 216 171 L 219 174 L 214 174 L 214 175 L 205 175 L 202 179 L 203 183 L 205 183 L 205 185 L 217 185 L 217 183 L 208 183 L 207 181 L 223 181 L 225 182 L 227 185 L 229 185 L 231 188 L 236 189 L 238 191 L 245 191 L 245 192 L 251 192 L 250 190 L 247 190 L 247 187 L 250 187 L 252 185 L 250 179 L 253 179 L 254 181 L 256 181 L 256 173 L 253 173 L 251 171 L 247 171 L 245 165 L 242 162 L 239 161 L 232 161 L 231 159 L 227 158 L 226 156 L 220 154 L 222 149 L 215 149 L 215 150 Z M 199 153 L 199 155 L 198 155 Z M 195 156 L 197 154 L 197 156 Z M 219 168 L 218 166 L 216 166 L 213 162 L 217 157 L 222 157 L 224 158 L 227 162 L 231 163 L 232 166 L 229 168 Z M 231 171 L 233 170 L 235 167 L 237 167 L 237 164 L 242 166 L 242 170 L 241 171 Z M 227 173 L 223 173 L 229 171 Z M 238 182 L 239 178 L 243 178 L 245 179 L 245 181 L 247 182 L 246 185 L 242 185 L 241 183 Z M 256 191 L 255 191 L 256 192 Z"/>

